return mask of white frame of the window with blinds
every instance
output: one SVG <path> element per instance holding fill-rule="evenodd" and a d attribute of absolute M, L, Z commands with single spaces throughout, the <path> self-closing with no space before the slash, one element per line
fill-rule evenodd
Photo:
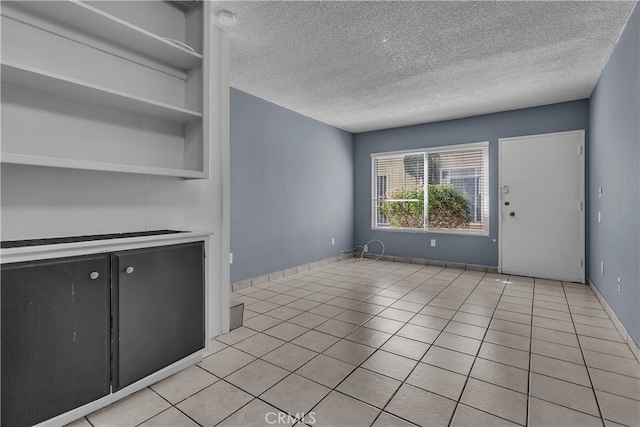
<path fill-rule="evenodd" d="M 490 185 L 489 185 L 489 141 L 470 142 L 453 145 L 444 145 L 436 147 L 426 147 L 419 149 L 409 150 L 397 150 L 397 151 L 385 151 L 371 153 L 371 229 L 375 231 L 387 231 L 387 232 L 399 232 L 399 233 L 440 233 L 440 234 L 459 234 L 464 236 L 488 236 L 490 234 Z M 459 228 L 430 228 L 428 226 L 428 169 L 429 169 L 429 154 L 445 153 L 461 150 L 483 149 L 485 155 L 483 156 L 482 176 L 484 180 L 484 189 L 486 192 L 486 201 L 481 204 L 481 211 L 484 217 L 484 229 L 459 229 Z M 405 228 L 405 227 L 381 227 L 377 223 L 377 205 L 379 203 L 378 191 L 378 175 L 376 175 L 376 161 L 380 158 L 393 158 L 399 156 L 406 156 L 412 154 L 422 154 L 424 156 L 424 170 L 423 170 L 423 190 L 424 190 L 424 226 L 422 228 Z"/>

